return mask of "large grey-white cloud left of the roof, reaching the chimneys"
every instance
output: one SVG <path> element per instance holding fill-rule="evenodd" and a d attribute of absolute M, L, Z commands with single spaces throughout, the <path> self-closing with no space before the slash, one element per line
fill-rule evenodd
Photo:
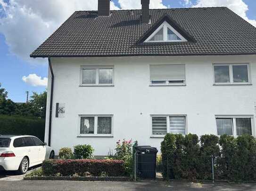
<path fill-rule="evenodd" d="M 76 10 L 97 10 L 97 0 L 0 0 L 0 33 L 9 52 L 31 61 L 35 50 Z M 111 9 L 118 9 L 111 2 Z"/>

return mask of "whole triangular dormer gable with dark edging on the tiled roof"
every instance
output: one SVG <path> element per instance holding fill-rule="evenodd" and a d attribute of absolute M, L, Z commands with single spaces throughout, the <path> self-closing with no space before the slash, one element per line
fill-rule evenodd
<path fill-rule="evenodd" d="M 138 43 L 196 42 L 169 15 L 163 15 L 138 41 Z"/>

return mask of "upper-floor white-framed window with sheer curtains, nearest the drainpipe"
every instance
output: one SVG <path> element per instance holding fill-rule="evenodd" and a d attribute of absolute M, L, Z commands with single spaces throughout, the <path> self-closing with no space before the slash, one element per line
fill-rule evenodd
<path fill-rule="evenodd" d="M 82 66 L 81 85 L 113 85 L 113 66 Z"/>

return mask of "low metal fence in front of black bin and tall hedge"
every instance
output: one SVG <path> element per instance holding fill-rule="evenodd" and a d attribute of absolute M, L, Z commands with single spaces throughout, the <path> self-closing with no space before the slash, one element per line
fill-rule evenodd
<path fill-rule="evenodd" d="M 134 179 L 161 177 L 170 179 L 196 180 L 230 180 L 230 181 L 256 181 L 256 157 L 169 157 L 158 160 L 156 168 L 155 155 L 147 160 L 141 160 L 140 154 L 135 154 Z M 151 159 L 151 160 L 150 160 Z M 157 175 L 156 175 L 157 174 Z"/>

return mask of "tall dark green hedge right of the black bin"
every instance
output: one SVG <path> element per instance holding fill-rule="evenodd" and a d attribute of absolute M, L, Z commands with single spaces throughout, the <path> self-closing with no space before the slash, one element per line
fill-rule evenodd
<path fill-rule="evenodd" d="M 163 177 L 195 181 L 215 179 L 256 181 L 256 139 L 223 135 L 167 134 L 161 143 Z"/>

